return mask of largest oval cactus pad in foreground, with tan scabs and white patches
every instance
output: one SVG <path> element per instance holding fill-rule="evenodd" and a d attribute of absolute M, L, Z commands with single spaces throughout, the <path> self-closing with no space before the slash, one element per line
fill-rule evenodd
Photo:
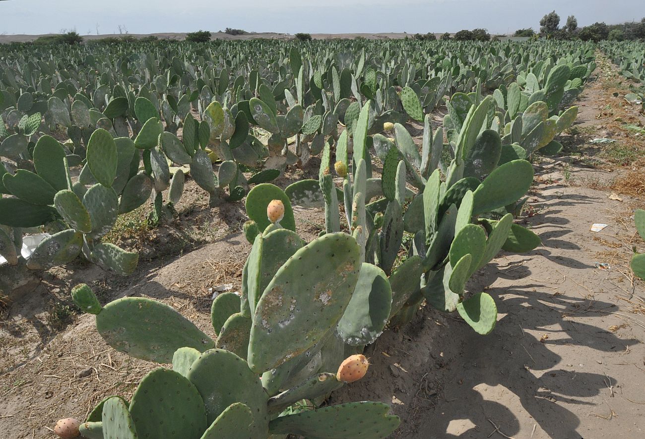
<path fill-rule="evenodd" d="M 360 252 L 349 235 L 328 233 L 277 271 L 253 316 L 248 349 L 253 371 L 274 369 L 303 353 L 338 323 L 359 278 Z"/>

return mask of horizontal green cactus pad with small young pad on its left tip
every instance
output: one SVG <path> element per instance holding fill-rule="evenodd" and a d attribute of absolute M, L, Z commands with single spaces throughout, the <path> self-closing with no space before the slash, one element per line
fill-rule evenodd
<path fill-rule="evenodd" d="M 175 309 L 143 297 L 123 297 L 104 306 L 96 329 L 117 351 L 157 363 L 172 362 L 180 347 L 204 352 L 215 346 Z"/>

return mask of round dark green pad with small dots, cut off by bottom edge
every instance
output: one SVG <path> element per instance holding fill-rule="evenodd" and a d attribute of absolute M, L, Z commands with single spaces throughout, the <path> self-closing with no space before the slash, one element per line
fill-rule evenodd
<path fill-rule="evenodd" d="M 132 395 L 130 415 L 141 438 L 199 439 L 208 427 L 197 388 L 179 372 L 159 367 Z"/>

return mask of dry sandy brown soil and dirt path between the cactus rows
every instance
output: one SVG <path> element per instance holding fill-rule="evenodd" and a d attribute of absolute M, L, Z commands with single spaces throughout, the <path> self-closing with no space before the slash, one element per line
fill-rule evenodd
<path fill-rule="evenodd" d="M 621 121 L 642 126 L 645 119 L 620 95 L 613 97 L 624 87 L 611 66 L 600 64 L 599 79 L 582 96 L 579 123 L 562 136 L 564 153 L 535 163 L 522 221 L 541 236 L 542 246 L 526 255 L 501 254 L 468 286 L 496 298 L 500 315 L 493 333 L 481 337 L 457 315 L 422 307 L 410 325 L 386 331 L 367 348 L 368 376 L 330 402 L 392 404 L 402 418 L 396 438 L 644 435 L 645 287 L 627 264 L 632 246 L 645 251 L 630 218 L 645 206 L 645 163 L 619 166 L 603 158 L 606 147 L 588 141 L 612 137 L 645 150 L 642 137 L 620 130 Z M 278 184 L 317 175 L 316 168 L 314 158 Z M 633 173 L 640 178 L 626 179 Z M 203 200 L 185 201 L 197 207 L 183 210 L 188 216 L 180 215 L 179 226 L 201 215 L 195 232 L 201 239 L 187 240 L 186 253 L 174 246 L 120 283 L 92 267 L 70 271 L 62 281 L 55 276 L 64 273 L 51 273 L 36 295 L 6 311 L 0 327 L 3 435 L 52 438 L 57 419 L 84 418 L 107 395 L 128 396 L 155 367 L 106 346 L 91 315 L 53 331 L 42 302 L 61 293 L 55 289 L 64 294 L 66 283 L 89 282 L 103 302 L 124 295 L 162 300 L 212 335 L 208 288 L 230 282 L 239 289 L 250 249 L 239 233 L 243 205 L 209 209 Z M 298 209 L 295 216 L 299 233 L 313 239 L 322 211 Z M 609 226 L 593 233 L 595 222 Z M 219 232 L 207 234 L 210 229 Z M 162 238 L 152 236 L 157 248 L 166 248 Z"/>

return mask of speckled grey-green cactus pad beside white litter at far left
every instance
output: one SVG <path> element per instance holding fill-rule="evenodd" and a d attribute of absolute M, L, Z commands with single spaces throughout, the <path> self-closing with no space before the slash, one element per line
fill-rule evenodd
<path fill-rule="evenodd" d="M 81 253 L 83 233 L 68 229 L 43 239 L 27 260 L 29 269 L 48 269 L 67 264 Z"/>

